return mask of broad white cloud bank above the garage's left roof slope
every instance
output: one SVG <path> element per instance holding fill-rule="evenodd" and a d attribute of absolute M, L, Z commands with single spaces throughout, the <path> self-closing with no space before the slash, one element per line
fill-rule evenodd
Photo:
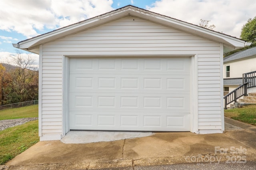
<path fill-rule="evenodd" d="M 38 30 L 57 29 L 109 12 L 112 4 L 112 0 L 1 0 L 0 29 L 30 38 Z"/>

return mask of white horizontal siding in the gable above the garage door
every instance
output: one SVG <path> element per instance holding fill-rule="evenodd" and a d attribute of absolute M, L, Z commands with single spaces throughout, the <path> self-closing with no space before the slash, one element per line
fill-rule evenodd
<path fill-rule="evenodd" d="M 43 53 L 180 55 L 181 51 L 183 55 L 219 54 L 220 44 L 157 23 L 125 17 L 48 43 Z"/>

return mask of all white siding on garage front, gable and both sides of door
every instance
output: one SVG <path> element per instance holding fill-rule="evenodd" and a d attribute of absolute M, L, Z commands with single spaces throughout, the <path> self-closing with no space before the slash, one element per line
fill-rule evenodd
<path fill-rule="evenodd" d="M 198 128 L 199 130 L 222 129 L 220 45 L 133 16 L 44 44 L 42 135 L 64 135 L 62 134 L 62 61 L 63 56 L 75 55 L 198 57 L 198 66 L 196 66 L 198 67 Z"/>

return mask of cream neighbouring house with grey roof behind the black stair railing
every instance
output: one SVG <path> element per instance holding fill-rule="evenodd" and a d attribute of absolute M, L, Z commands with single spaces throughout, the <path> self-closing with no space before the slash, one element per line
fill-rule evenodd
<path fill-rule="evenodd" d="M 239 51 L 223 59 L 224 96 L 242 84 L 242 75 L 256 71 L 256 47 Z M 256 92 L 256 88 L 248 89 Z"/>

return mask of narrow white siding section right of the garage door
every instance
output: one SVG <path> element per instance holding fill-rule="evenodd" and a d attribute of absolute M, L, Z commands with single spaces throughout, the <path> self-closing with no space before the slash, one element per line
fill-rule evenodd
<path fill-rule="evenodd" d="M 220 54 L 198 55 L 198 129 L 222 129 Z M 201 132 L 203 133 L 203 132 Z"/>

